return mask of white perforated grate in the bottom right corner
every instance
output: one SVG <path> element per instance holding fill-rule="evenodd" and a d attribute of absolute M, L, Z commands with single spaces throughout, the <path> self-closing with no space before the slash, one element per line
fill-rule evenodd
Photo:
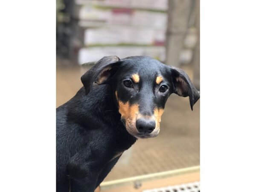
<path fill-rule="evenodd" d="M 200 192 L 200 182 L 185 183 L 175 186 L 167 186 L 156 189 L 147 189 L 143 192 Z"/>

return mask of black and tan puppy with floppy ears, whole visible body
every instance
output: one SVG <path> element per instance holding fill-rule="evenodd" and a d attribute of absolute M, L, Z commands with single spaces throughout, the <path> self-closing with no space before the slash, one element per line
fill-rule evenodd
<path fill-rule="evenodd" d="M 199 92 L 186 73 L 145 57 L 107 56 L 57 108 L 57 192 L 93 192 L 138 138 L 156 137 L 166 100 Z"/>

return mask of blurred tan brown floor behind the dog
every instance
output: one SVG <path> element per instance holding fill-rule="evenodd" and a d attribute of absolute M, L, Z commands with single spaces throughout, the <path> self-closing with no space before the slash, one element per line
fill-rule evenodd
<path fill-rule="evenodd" d="M 80 77 L 87 69 L 57 66 L 57 107 L 82 87 Z M 184 70 L 192 76 L 189 67 Z M 200 100 L 191 111 L 188 98 L 171 95 L 162 116 L 160 134 L 138 140 L 125 151 L 105 181 L 199 165 L 199 109 Z"/>

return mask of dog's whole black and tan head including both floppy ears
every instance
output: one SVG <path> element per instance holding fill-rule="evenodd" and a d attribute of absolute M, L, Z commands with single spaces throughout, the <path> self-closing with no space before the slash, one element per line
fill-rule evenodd
<path fill-rule="evenodd" d="M 198 90 L 183 70 L 145 56 L 121 60 L 106 56 L 81 81 L 86 94 L 94 82 L 112 85 L 121 120 L 137 138 L 157 136 L 166 101 L 172 93 L 189 96 L 191 109 L 199 99 Z"/>

